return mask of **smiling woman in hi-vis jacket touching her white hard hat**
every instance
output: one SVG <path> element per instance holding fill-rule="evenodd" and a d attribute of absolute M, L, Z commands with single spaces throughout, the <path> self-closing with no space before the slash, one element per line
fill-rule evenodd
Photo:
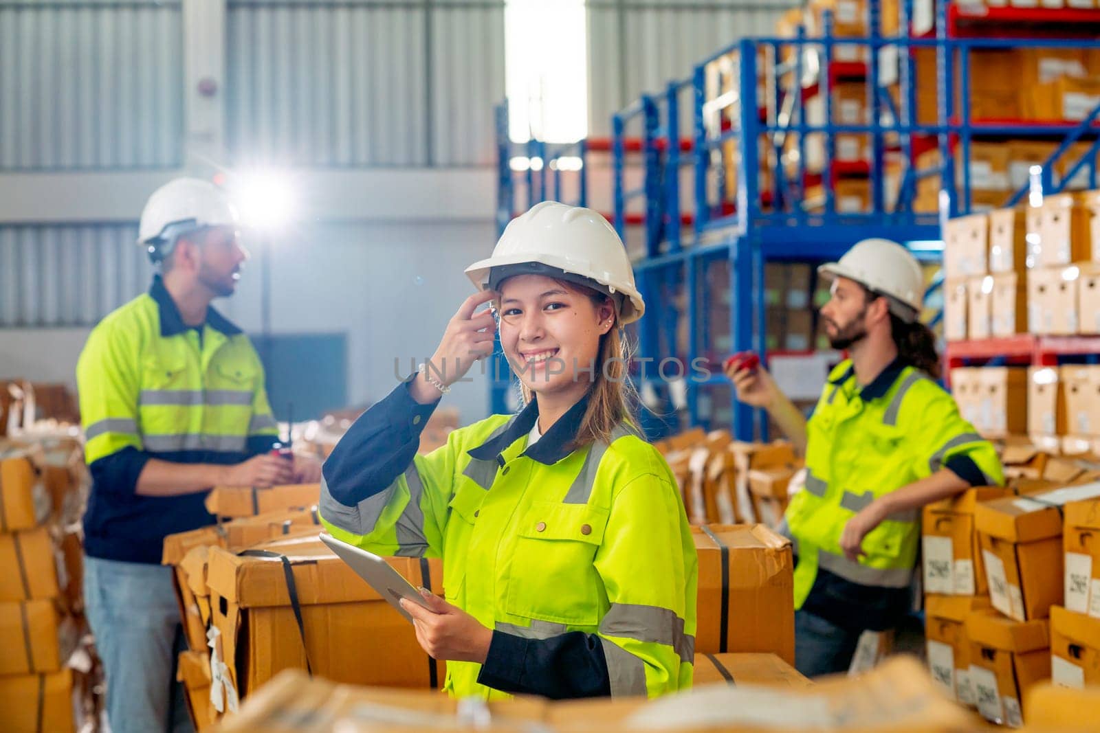
<path fill-rule="evenodd" d="M 403 604 L 457 697 L 689 687 L 696 555 L 668 465 L 635 433 L 620 329 L 645 303 L 623 242 L 595 211 L 546 201 L 466 275 L 480 291 L 430 362 L 324 464 L 326 526 L 378 554 L 442 556 L 446 601 Z M 524 409 L 417 455 L 497 329 Z"/>

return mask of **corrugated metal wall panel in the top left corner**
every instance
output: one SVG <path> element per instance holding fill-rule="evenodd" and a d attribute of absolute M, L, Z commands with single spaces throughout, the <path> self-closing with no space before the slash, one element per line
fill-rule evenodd
<path fill-rule="evenodd" d="M 0 0 L 0 173 L 183 159 L 180 3 Z"/>

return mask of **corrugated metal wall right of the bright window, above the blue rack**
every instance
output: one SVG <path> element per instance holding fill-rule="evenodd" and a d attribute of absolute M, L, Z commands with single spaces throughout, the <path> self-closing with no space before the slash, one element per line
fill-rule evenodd
<path fill-rule="evenodd" d="M 704 56 L 739 38 L 773 35 L 798 0 L 588 0 L 590 134 L 645 92 L 691 76 Z M 682 102 L 683 104 L 683 102 Z M 682 120 L 686 124 L 685 109 Z M 691 127 L 682 127 L 690 134 Z"/>

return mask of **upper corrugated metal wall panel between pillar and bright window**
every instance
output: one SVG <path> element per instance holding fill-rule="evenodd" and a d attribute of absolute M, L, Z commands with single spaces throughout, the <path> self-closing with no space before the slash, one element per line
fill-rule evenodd
<path fill-rule="evenodd" d="M 234 162 L 493 162 L 503 0 L 230 0 Z"/>

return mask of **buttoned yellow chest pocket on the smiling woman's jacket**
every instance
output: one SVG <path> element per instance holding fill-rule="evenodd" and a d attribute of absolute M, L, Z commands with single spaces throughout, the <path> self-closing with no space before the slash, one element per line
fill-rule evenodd
<path fill-rule="evenodd" d="M 607 518 L 607 510 L 587 504 L 534 503 L 517 531 L 505 610 L 558 623 L 598 623 L 603 585 L 593 562 Z"/>

